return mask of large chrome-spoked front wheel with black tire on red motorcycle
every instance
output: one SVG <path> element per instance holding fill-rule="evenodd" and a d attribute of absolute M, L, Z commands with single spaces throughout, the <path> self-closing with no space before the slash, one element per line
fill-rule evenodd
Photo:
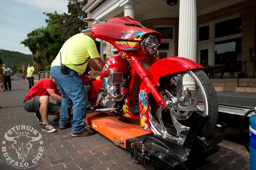
<path fill-rule="evenodd" d="M 151 130 L 182 143 L 197 112 L 209 117 L 201 133 L 201 137 L 209 139 L 218 119 L 218 101 L 215 89 L 204 71 L 167 75 L 161 77 L 159 83 L 158 91 L 170 106 L 161 109 L 154 97 L 149 95 Z"/>

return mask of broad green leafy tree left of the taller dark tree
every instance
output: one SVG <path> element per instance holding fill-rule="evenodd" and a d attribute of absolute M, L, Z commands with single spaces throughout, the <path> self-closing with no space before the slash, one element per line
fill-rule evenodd
<path fill-rule="evenodd" d="M 64 29 L 64 14 L 44 13 L 49 17 L 46 19 L 47 26 L 34 29 L 27 34 L 27 39 L 23 40 L 21 44 L 24 44 L 33 54 L 35 62 L 44 62 L 45 65 L 49 65 L 58 51 L 64 40 L 61 39 L 61 35 Z"/>

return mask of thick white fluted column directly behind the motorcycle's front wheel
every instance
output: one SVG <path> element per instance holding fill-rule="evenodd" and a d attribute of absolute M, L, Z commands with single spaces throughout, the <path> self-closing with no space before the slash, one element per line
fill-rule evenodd
<path fill-rule="evenodd" d="M 178 56 L 196 61 L 196 0 L 180 0 Z M 195 87 L 192 78 L 184 77 L 183 85 Z"/>

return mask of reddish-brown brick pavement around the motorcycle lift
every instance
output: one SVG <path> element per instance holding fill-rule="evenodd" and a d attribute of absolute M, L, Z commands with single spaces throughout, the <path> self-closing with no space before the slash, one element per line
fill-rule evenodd
<path fill-rule="evenodd" d="M 31 142 L 32 148 L 26 157 L 24 165 L 30 167 L 32 170 L 153 170 L 152 165 L 143 166 L 134 164 L 131 155 L 127 150 L 113 144 L 99 133 L 94 133 L 93 136 L 87 137 L 71 137 L 71 129 L 59 130 L 58 122 L 53 122 L 53 116 L 48 116 L 49 122 L 57 127 L 58 131 L 55 133 L 46 133 L 41 130 L 41 125 L 38 124 L 37 119 L 33 113 L 28 113 L 23 109 L 23 98 L 26 96 L 26 89 L 28 82 L 26 80 L 13 80 L 12 91 L 0 92 L 0 167 L 3 170 L 15 170 L 7 164 L 6 159 L 13 159 L 14 161 L 22 162 L 17 157 L 15 149 L 12 148 L 13 142 L 6 141 L 5 133 L 12 127 L 25 125 L 26 128 L 33 127 L 42 135 L 39 141 Z M 15 128 L 16 129 L 16 128 Z M 35 130 L 31 132 L 35 133 Z M 9 132 L 8 131 L 8 132 Z M 30 132 L 28 130 L 23 130 Z M 17 132 L 21 133 L 20 130 Z M 16 133 L 17 133 L 16 132 Z M 15 133 L 15 134 L 16 134 Z M 38 133 L 35 133 L 38 135 Z M 36 135 L 29 133 L 30 136 Z M 22 135 L 22 134 L 21 134 Z M 29 136 L 28 135 L 28 136 Z M 198 170 L 249 170 L 249 154 L 240 142 L 239 129 L 236 127 L 229 127 L 222 133 L 224 142 L 219 144 L 220 151 L 195 162 L 193 167 L 189 169 Z M 14 133 L 9 136 L 17 136 Z M 20 136 L 17 139 L 17 144 L 25 144 L 28 139 L 22 139 Z M 4 143 L 5 141 L 5 143 Z M 44 148 L 40 152 L 40 148 Z M 5 150 L 6 149 L 6 150 Z M 38 160 L 37 160 L 37 159 Z M 25 163 L 27 162 L 27 164 Z M 15 164 L 16 162 L 12 163 Z M 22 163 L 17 167 L 25 169 Z M 32 167 L 31 167 L 32 166 Z"/>

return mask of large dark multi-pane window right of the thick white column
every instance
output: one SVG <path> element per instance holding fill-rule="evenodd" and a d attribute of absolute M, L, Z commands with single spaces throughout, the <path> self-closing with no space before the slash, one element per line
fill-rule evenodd
<path fill-rule="evenodd" d="M 242 20 L 234 14 L 198 26 L 198 63 L 207 59 L 209 65 L 225 64 L 230 59 L 239 69 L 241 54 Z M 241 61 L 240 61 L 241 62 Z"/>

